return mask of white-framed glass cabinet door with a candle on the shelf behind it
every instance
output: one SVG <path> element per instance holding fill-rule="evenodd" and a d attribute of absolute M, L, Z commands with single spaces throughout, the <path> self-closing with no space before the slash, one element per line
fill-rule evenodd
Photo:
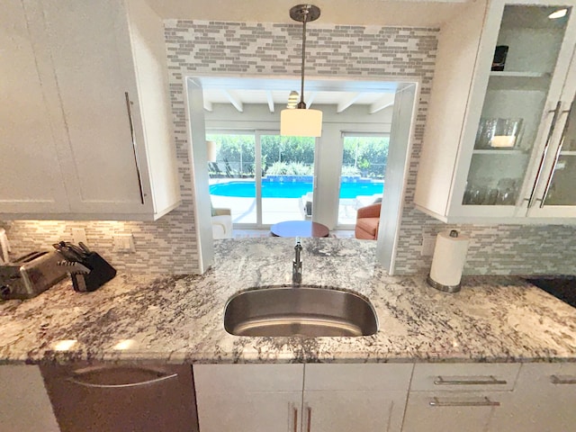
<path fill-rule="evenodd" d="M 552 145 L 550 124 L 575 40 L 572 8 L 548 3 L 491 5 L 485 31 L 498 16 L 498 32 L 479 56 L 477 81 L 487 83 L 482 98 L 472 97 L 482 110 L 471 108 L 464 129 L 463 161 L 469 162 L 455 183 L 453 215 L 526 216 L 545 169 L 542 155 Z M 562 17 L 550 18 L 562 9 Z"/>

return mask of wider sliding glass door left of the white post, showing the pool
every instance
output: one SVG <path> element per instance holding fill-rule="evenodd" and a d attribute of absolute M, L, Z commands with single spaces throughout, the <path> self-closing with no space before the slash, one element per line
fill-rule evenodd
<path fill-rule="evenodd" d="M 208 133 L 216 143 L 209 162 L 214 207 L 228 207 L 238 228 L 311 219 L 315 139 L 277 132 Z"/>

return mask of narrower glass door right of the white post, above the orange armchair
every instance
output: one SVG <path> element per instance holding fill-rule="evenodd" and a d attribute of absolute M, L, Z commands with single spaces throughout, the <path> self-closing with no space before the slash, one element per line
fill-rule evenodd
<path fill-rule="evenodd" d="M 344 132 L 338 227 L 356 223 L 360 207 L 382 202 L 390 134 Z"/>

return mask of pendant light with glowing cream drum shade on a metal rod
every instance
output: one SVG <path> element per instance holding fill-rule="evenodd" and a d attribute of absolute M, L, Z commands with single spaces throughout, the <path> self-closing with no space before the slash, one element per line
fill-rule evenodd
<path fill-rule="evenodd" d="M 280 112 L 280 135 L 294 137 L 320 137 L 322 134 L 322 112 L 306 109 L 304 103 L 304 63 L 306 58 L 306 23 L 318 20 L 320 8 L 313 4 L 298 4 L 290 9 L 290 17 L 302 23 L 302 81 L 300 102 L 296 109 Z"/>

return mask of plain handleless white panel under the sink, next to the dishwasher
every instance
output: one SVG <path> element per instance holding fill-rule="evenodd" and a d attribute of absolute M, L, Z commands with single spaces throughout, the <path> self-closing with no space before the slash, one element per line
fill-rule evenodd
<path fill-rule="evenodd" d="M 302 392 L 304 365 L 193 365 L 196 392 Z"/>

